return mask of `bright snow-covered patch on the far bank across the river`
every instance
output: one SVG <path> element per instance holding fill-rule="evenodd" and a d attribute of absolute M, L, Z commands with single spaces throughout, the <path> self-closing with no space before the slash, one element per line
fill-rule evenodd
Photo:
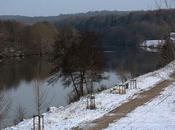
<path fill-rule="evenodd" d="M 140 46 L 142 47 L 152 47 L 152 48 L 161 48 L 165 40 L 146 40 Z"/>

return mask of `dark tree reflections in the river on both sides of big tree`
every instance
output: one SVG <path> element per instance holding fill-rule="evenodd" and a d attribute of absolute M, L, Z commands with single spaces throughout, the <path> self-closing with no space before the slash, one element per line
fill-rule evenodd
<path fill-rule="evenodd" d="M 137 76 L 156 69 L 158 54 L 130 49 L 116 52 L 115 54 L 105 54 L 107 57 L 108 69 L 132 73 Z M 37 64 L 41 62 L 41 75 L 35 73 Z M 122 68 L 121 68 L 122 67 Z M 120 69 L 121 68 L 121 69 Z M 0 63 L 0 89 L 6 87 L 17 87 L 21 81 L 30 82 L 37 77 L 45 79 L 48 77 L 51 64 L 48 58 L 31 57 L 25 59 L 11 59 Z M 120 73 L 120 72 L 119 72 Z"/>

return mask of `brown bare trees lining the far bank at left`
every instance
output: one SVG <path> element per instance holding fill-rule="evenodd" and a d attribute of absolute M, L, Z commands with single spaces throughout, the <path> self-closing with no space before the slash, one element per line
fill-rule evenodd
<path fill-rule="evenodd" d="M 24 25 L 0 21 L 0 56 L 43 55 L 53 51 L 57 29 L 48 22 Z"/>

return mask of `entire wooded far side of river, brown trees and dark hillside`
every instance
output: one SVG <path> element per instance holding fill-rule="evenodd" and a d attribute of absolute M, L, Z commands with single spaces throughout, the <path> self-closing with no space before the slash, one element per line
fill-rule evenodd
<path fill-rule="evenodd" d="M 175 9 L 102 11 L 60 15 L 50 19 L 34 17 L 35 22 L 30 24 L 26 24 L 26 17 L 25 21 L 22 16 L 19 19 L 18 17 L 0 17 L 1 58 L 52 54 L 56 39 L 66 28 L 74 28 L 79 32 L 95 32 L 101 39 L 104 50 L 122 46 L 137 47 L 146 39 L 167 39 L 169 33 L 175 30 Z"/>

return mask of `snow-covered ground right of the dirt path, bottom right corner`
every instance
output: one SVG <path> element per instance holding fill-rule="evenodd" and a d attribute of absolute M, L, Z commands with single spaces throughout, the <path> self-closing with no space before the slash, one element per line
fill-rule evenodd
<path fill-rule="evenodd" d="M 175 82 L 160 96 L 138 107 L 105 130 L 175 130 Z"/>

